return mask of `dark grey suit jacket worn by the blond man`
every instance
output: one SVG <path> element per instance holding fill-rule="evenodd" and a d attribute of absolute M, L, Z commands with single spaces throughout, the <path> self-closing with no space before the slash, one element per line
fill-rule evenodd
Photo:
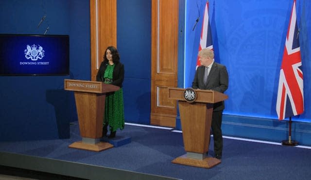
<path fill-rule="evenodd" d="M 228 89 L 228 72 L 224 65 L 214 62 L 207 77 L 207 85 L 204 84 L 205 66 L 199 66 L 192 82 L 193 89 L 215 90 L 224 93 Z M 224 110 L 224 101 L 214 104 L 214 111 Z"/>

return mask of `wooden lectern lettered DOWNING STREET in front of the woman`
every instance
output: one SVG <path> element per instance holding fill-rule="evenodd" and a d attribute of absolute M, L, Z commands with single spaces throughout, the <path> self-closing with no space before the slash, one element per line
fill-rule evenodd
<path fill-rule="evenodd" d="M 79 128 L 82 141 L 69 145 L 71 148 L 90 151 L 102 151 L 113 145 L 101 142 L 105 97 L 107 92 L 119 90 L 120 87 L 98 81 L 65 79 L 65 90 L 74 91 L 78 112 Z"/>

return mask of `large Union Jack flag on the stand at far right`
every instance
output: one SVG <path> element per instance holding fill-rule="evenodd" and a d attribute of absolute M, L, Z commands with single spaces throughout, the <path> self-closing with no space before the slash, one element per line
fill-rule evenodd
<path fill-rule="evenodd" d="M 279 120 L 304 111 L 303 73 L 294 0 L 280 70 L 276 112 Z"/>

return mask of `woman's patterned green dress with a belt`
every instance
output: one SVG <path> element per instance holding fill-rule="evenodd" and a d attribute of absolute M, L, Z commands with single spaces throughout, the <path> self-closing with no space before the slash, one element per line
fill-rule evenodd
<path fill-rule="evenodd" d="M 104 79 L 112 79 L 112 72 L 115 64 L 108 65 L 105 73 Z M 104 82 L 110 84 L 110 82 Z M 121 130 L 124 128 L 124 104 L 123 104 L 123 90 L 117 90 L 115 92 L 107 93 L 105 99 L 105 114 L 103 125 L 109 125 L 110 131 L 116 131 L 118 128 Z"/>

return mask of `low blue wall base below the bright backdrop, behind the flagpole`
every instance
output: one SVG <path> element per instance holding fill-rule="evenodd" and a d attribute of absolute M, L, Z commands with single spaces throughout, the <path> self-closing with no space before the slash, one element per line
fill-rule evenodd
<path fill-rule="evenodd" d="M 289 136 L 287 121 L 254 118 L 235 115 L 224 115 L 222 131 L 225 136 L 247 137 L 251 139 L 281 142 Z M 299 145 L 311 144 L 311 123 L 293 122 L 292 140 Z"/>

